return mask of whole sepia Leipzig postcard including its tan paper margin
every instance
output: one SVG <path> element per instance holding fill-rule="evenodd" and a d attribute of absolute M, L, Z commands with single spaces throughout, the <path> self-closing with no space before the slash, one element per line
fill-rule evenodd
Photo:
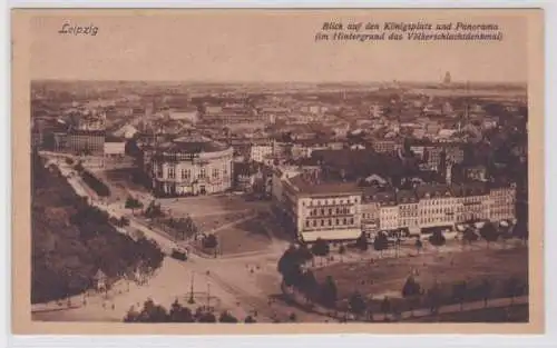
<path fill-rule="evenodd" d="M 12 17 L 20 330 L 543 330 L 541 10 Z"/>

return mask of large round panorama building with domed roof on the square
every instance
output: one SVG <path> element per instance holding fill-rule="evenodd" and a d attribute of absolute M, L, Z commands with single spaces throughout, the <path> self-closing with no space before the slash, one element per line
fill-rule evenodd
<path fill-rule="evenodd" d="M 157 146 L 150 156 L 153 189 L 164 196 L 209 195 L 232 187 L 233 149 L 201 136 Z"/>

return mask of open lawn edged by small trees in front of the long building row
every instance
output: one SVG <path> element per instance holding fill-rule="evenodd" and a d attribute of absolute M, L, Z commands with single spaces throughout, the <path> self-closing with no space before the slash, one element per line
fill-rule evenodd
<path fill-rule="evenodd" d="M 509 279 L 516 279 L 515 295 L 527 294 L 528 285 L 528 249 L 516 247 L 508 249 L 463 250 L 458 252 L 428 252 L 404 258 L 383 258 L 367 262 L 340 262 L 314 270 L 320 284 L 331 276 L 338 289 L 340 307 L 348 306 L 349 298 L 358 291 L 372 310 L 381 311 L 381 302 L 385 297 L 391 307 L 410 310 L 426 307 L 424 294 L 436 285 L 440 304 L 455 304 L 455 286 L 466 281 L 463 301 L 482 300 L 481 288 L 489 282 L 489 298 L 509 297 Z M 402 289 L 409 276 L 412 276 L 423 296 L 418 302 L 410 304 L 402 297 Z"/>

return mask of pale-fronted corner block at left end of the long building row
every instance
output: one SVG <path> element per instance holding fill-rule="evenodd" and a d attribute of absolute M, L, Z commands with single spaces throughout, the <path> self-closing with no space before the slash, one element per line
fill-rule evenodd
<path fill-rule="evenodd" d="M 302 242 L 354 240 L 361 229 L 361 190 L 352 182 L 324 182 L 319 175 L 286 179 L 284 211 Z"/>

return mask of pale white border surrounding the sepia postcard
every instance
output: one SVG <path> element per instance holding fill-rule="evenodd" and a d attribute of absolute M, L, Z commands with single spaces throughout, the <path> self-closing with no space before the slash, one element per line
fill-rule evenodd
<path fill-rule="evenodd" d="M 334 335 L 334 336 L 323 336 L 323 335 L 290 335 L 290 336 L 141 336 L 141 337 L 61 337 L 61 336 L 11 336 L 10 331 L 10 274 L 11 274 L 11 117 L 17 117 L 10 112 L 11 96 L 10 90 L 10 8 L 75 8 L 75 7 L 86 7 L 86 8 L 395 8 L 395 7 L 420 7 L 420 8 L 544 8 L 546 14 L 546 221 L 545 225 L 549 228 L 545 236 L 545 269 L 546 269 L 546 335 L 545 336 L 495 336 L 495 335 L 422 335 L 422 336 L 373 336 L 373 335 Z M 553 178 L 557 178 L 557 163 L 555 157 L 557 151 L 555 151 L 550 143 L 551 137 L 555 137 L 555 131 L 557 129 L 557 122 L 555 117 L 557 117 L 556 97 L 557 97 L 557 76 L 556 69 L 554 67 L 557 61 L 556 44 L 557 38 L 555 32 L 557 32 L 557 2 L 547 1 L 527 1 L 527 0 L 508 0 L 508 1 L 428 1 L 428 0 L 410 0 L 410 1 L 255 1 L 248 0 L 243 1 L 243 3 L 237 3 L 237 1 L 212 1 L 209 3 L 203 1 L 109 1 L 109 0 L 97 0 L 97 1 L 14 1 L 9 0 L 8 7 L 2 7 L 1 9 L 1 22 L 6 26 L 0 27 L 0 33 L 6 43 L 2 46 L 4 60 L 2 61 L 2 72 L 1 76 L 7 77 L 4 83 L 1 84 L 0 98 L 2 106 L 4 106 L 4 115 L 1 117 L 1 131 L 3 132 L 2 146 L 0 146 L 0 158 L 6 160 L 6 167 L 0 171 L 0 178 L 2 182 L 2 189 L 0 191 L 1 203 L 0 203 L 0 221 L 4 223 L 4 239 L 3 249 L 4 251 L 4 267 L 0 267 L 0 282 L 4 284 L 2 295 L 0 296 L 0 320 L 2 328 L 2 341 L 0 347 L 306 347 L 312 345 L 319 345 L 321 347 L 556 347 L 555 342 L 557 336 L 556 334 L 556 322 L 555 317 L 557 314 L 557 301 L 555 300 L 556 290 L 556 272 L 553 271 L 553 265 L 555 265 L 556 252 L 551 252 L 554 247 L 557 247 L 557 237 L 555 237 L 554 231 L 550 228 L 557 226 L 557 215 L 553 213 L 554 209 L 557 209 L 557 185 Z M 548 252 L 549 251 L 549 252 Z M 6 279 L 7 281 L 2 281 Z M 551 291 L 553 290 L 553 291 Z"/>

